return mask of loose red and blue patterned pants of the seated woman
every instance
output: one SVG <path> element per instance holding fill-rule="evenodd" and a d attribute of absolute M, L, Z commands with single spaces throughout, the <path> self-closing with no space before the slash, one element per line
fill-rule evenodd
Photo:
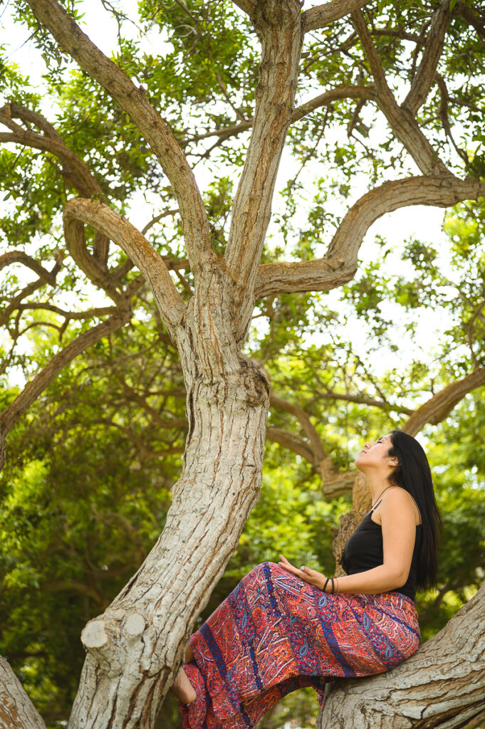
<path fill-rule="evenodd" d="M 197 699 L 185 729 L 252 729 L 276 701 L 397 666 L 420 644 L 414 602 L 400 593 L 327 595 L 279 565 L 252 569 L 190 637 L 184 668 Z"/>

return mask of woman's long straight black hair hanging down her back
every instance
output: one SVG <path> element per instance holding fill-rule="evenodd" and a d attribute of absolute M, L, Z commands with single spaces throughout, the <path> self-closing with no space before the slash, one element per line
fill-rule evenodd
<path fill-rule="evenodd" d="M 422 539 L 418 554 L 416 587 L 426 590 L 436 585 L 438 577 L 438 537 L 443 527 L 441 514 L 432 486 L 430 464 L 418 441 L 393 430 L 389 456 L 395 456 L 399 465 L 389 476 L 389 483 L 405 488 L 414 498 L 421 513 Z"/>

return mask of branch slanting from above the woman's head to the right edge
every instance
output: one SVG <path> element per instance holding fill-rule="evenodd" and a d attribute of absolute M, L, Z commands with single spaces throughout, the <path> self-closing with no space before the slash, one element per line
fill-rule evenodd
<path fill-rule="evenodd" d="M 482 385 L 485 385 L 485 367 L 478 367 L 470 375 L 452 382 L 424 402 L 402 426 L 403 431 L 416 435 L 427 423 L 441 423 L 468 392 Z"/>

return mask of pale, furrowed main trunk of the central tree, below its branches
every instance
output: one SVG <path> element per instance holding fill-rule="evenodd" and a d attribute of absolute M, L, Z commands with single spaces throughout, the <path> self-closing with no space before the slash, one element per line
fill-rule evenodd
<path fill-rule="evenodd" d="M 230 281 L 222 265 L 206 271 L 176 332 L 189 421 L 182 476 L 150 555 L 82 632 L 88 656 L 70 729 L 153 726 L 257 501 L 269 386 L 230 330 Z"/>

